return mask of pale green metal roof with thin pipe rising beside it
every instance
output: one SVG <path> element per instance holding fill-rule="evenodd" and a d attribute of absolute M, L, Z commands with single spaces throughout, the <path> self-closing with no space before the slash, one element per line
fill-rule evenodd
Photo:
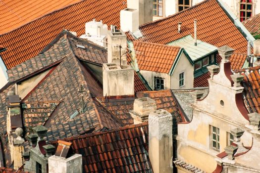
<path fill-rule="evenodd" d="M 194 39 L 191 35 L 167 43 L 167 45 L 183 47 L 193 61 L 200 59 L 217 50 L 216 46 L 202 42 L 201 40 L 197 40 L 197 45 L 194 45 Z"/>

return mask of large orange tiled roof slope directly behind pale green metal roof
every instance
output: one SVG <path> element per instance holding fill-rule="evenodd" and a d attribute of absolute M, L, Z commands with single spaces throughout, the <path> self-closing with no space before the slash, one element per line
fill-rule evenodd
<path fill-rule="evenodd" d="M 166 44 L 194 33 L 194 19 L 197 19 L 197 38 L 217 47 L 228 45 L 235 52 L 247 52 L 247 40 L 232 23 L 217 0 L 205 0 L 171 16 L 139 26 L 142 41 Z M 182 32 L 178 33 L 178 22 Z M 235 56 L 235 55 L 232 55 Z M 232 69 L 242 68 L 246 56 L 231 57 Z"/>

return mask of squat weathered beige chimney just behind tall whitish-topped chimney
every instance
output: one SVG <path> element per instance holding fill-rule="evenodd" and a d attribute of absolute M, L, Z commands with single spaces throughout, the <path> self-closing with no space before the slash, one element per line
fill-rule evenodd
<path fill-rule="evenodd" d="M 149 97 L 137 98 L 134 101 L 134 110 L 130 115 L 134 119 L 134 124 L 140 124 L 148 121 L 150 112 L 156 111 L 156 101 Z"/>

